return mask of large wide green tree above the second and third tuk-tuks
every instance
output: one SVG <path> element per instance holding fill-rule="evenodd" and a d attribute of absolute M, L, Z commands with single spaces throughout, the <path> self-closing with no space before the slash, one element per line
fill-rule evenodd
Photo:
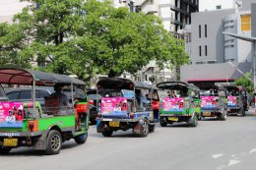
<path fill-rule="evenodd" d="M 175 39 L 154 15 L 130 13 L 96 0 L 88 1 L 84 10 L 86 33 L 79 46 L 89 50 L 86 55 L 93 59 L 100 74 L 134 74 L 151 60 L 156 60 L 160 68 L 163 63 L 181 65 L 188 61 L 184 41 Z M 91 47 L 85 37 L 91 39 Z"/>

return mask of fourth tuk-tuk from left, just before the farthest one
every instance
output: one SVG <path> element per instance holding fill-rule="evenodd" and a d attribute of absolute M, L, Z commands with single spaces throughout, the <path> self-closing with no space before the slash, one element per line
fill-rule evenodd
<path fill-rule="evenodd" d="M 223 85 L 199 85 L 201 95 L 201 117 L 226 119 L 226 98 Z"/>

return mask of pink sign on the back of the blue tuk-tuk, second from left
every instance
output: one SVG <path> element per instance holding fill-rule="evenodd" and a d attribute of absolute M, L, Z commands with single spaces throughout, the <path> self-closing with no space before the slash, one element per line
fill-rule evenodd
<path fill-rule="evenodd" d="M 101 114 L 127 114 L 127 100 L 125 97 L 103 97 L 101 98 Z"/>

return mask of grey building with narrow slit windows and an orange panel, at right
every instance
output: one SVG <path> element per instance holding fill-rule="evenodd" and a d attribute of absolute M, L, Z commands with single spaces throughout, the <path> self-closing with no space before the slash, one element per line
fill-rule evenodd
<path fill-rule="evenodd" d="M 234 81 L 252 69 L 251 42 L 224 32 L 251 36 L 251 4 L 255 0 L 235 1 L 233 9 L 192 14 L 188 28 L 191 41 L 190 65 L 181 67 L 181 80 L 192 83 Z M 192 73 L 192 76 L 191 76 Z"/>

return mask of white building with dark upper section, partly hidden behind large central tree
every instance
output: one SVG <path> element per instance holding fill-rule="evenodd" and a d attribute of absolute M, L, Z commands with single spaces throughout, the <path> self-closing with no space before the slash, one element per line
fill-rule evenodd
<path fill-rule="evenodd" d="M 160 17 L 166 30 L 176 37 L 183 37 L 180 30 L 191 24 L 191 13 L 198 12 L 199 0 L 136 0 L 135 6 L 141 6 L 146 14 Z M 157 83 L 176 80 L 179 68 L 160 70 L 156 62 L 152 61 L 139 73 L 141 81 L 155 80 Z"/>

